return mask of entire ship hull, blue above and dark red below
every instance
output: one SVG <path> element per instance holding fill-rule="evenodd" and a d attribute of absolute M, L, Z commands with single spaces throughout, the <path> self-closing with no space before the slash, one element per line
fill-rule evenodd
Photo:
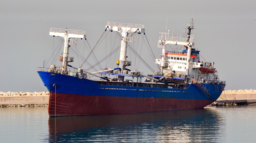
<path fill-rule="evenodd" d="M 50 116 L 198 109 L 216 101 L 225 87 L 217 84 L 190 84 L 186 89 L 108 86 L 89 79 L 37 72 L 50 92 Z"/>

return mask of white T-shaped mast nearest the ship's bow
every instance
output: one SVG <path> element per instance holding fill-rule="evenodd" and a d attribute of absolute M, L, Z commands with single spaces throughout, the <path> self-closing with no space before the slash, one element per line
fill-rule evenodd
<path fill-rule="evenodd" d="M 50 35 L 63 37 L 65 40 L 64 46 L 63 46 L 64 47 L 63 55 L 60 56 L 60 61 L 62 61 L 61 71 L 62 73 L 65 73 L 64 71 L 67 71 L 68 62 L 74 61 L 74 57 L 68 56 L 70 44 L 77 45 L 78 43 L 77 38 L 86 39 L 86 32 L 81 30 L 71 30 L 67 28 L 66 29 L 51 28 Z"/>

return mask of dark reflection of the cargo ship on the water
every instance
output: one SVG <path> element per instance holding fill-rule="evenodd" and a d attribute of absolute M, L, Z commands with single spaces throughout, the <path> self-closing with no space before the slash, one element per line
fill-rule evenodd
<path fill-rule="evenodd" d="M 213 109 L 50 117 L 48 124 L 49 142 L 225 141 L 225 119 Z"/>

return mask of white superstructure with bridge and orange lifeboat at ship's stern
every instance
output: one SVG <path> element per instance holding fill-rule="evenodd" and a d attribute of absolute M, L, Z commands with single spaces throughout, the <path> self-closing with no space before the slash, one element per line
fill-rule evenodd
<path fill-rule="evenodd" d="M 194 35 L 191 35 L 191 30 L 194 29 L 193 19 L 191 19 L 191 23 L 187 26 L 188 33 L 186 38 L 169 37 L 169 32 L 161 33 L 158 47 L 162 48 L 162 53 L 161 57 L 156 59 L 156 63 L 161 66 L 161 71 L 156 72 L 156 75 L 166 75 L 174 70 L 176 73 L 169 76 L 177 79 L 177 83 L 215 83 L 218 80 L 218 75 L 214 69 L 214 62 L 201 61 L 200 51 L 192 47 L 194 46 Z M 184 50 L 166 51 L 167 44 L 182 45 Z"/>

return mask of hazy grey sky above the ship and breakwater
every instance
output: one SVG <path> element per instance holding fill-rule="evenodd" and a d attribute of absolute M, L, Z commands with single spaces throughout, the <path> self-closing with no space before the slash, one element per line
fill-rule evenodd
<path fill-rule="evenodd" d="M 220 80 L 226 81 L 225 90 L 256 89 L 255 6 L 255 0 L 1 0 L 0 91 L 47 90 L 36 68 L 51 59 L 53 46 L 59 43 L 49 36 L 51 27 L 85 30 L 94 47 L 107 21 L 145 24 L 150 46 L 159 58 L 157 42 L 167 18 L 167 30 L 180 35 L 192 17 L 195 48 L 206 61 L 215 62 Z M 146 69 L 144 73 L 152 74 Z"/>

